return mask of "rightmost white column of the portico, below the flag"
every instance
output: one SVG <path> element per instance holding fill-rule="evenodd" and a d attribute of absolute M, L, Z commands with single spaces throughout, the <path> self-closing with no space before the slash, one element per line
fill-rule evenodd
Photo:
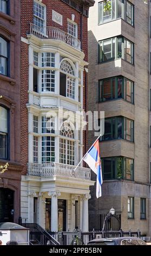
<path fill-rule="evenodd" d="M 90 194 L 84 194 L 82 196 L 83 209 L 82 209 L 82 231 L 89 231 L 89 215 L 88 215 L 88 200 L 91 198 Z"/>

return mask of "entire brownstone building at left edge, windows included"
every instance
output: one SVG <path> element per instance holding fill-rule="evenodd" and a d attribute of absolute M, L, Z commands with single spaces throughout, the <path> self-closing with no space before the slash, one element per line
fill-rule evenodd
<path fill-rule="evenodd" d="M 21 215 L 21 22 L 20 1 L 0 1 L 0 222 Z"/>

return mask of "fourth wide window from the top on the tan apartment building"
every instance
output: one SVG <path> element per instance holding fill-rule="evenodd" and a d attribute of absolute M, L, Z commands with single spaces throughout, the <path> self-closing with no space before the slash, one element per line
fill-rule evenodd
<path fill-rule="evenodd" d="M 126 139 L 134 142 L 134 121 L 124 117 L 105 118 L 104 135 L 100 141 L 111 139 Z"/>

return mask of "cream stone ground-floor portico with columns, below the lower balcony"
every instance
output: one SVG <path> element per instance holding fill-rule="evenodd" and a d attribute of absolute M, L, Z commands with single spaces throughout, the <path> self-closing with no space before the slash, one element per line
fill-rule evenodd
<path fill-rule="evenodd" d="M 49 179 L 24 176 L 23 179 L 23 222 L 38 223 L 48 231 L 89 230 L 89 186 L 94 181 L 59 176 Z"/>

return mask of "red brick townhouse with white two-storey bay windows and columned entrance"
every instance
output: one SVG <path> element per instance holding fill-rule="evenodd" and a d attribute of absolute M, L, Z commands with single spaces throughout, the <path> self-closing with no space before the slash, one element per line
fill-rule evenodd
<path fill-rule="evenodd" d="M 21 1 L 21 216 L 51 231 L 88 230 L 94 181 L 82 165 L 74 172 L 86 132 L 74 129 L 78 120 L 67 111 L 86 108 L 87 20 L 93 4 Z"/>

